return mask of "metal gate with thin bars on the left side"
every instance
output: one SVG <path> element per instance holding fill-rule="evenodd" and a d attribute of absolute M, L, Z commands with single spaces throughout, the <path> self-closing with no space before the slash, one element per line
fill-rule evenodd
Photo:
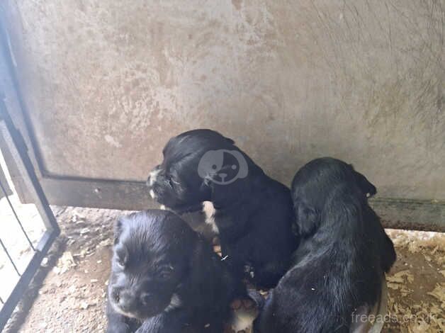
<path fill-rule="evenodd" d="M 30 158 L 28 157 L 28 149 L 25 145 L 23 137 L 21 133 L 14 127 L 11 117 L 7 111 L 6 103 L 4 102 L 4 96 L 0 91 L 0 147 L 3 156 L 5 158 L 4 161 L 8 161 L 9 167 L 15 168 L 18 171 L 19 176 L 21 177 L 21 184 L 26 186 L 26 190 L 29 191 L 30 196 L 33 198 L 33 203 L 35 208 L 37 208 L 38 215 L 43 222 L 45 227 L 45 231 L 40 239 L 36 240 L 33 244 L 31 241 L 28 232 L 25 227 L 23 227 L 23 220 L 20 218 L 20 214 L 18 213 L 16 207 L 13 204 L 13 201 L 10 200 L 13 188 L 13 184 L 8 184 L 6 181 L 7 170 L 4 170 L 4 166 L 0 169 L 0 199 L 4 201 L 4 206 L 9 206 L 11 209 L 13 220 L 0 220 L 0 252 L 4 252 L 6 255 L 6 264 L 9 265 L 11 271 L 13 271 L 16 281 L 15 286 L 11 290 L 11 293 L 7 296 L 7 298 L 0 297 L 0 331 L 4 328 L 6 322 L 9 320 L 14 308 L 16 307 L 18 301 L 21 299 L 21 296 L 26 291 L 28 284 L 33 278 L 35 272 L 42 259 L 47 254 L 48 250 L 55 237 L 59 235 L 60 230 L 57 226 L 57 222 L 55 220 L 54 215 L 52 214 L 52 210 L 47 203 L 47 199 L 45 198 L 45 194 L 43 193 L 42 188 L 38 182 L 37 176 L 35 175 L 35 171 L 33 168 L 33 164 L 30 162 Z M 12 165 L 13 164 L 13 165 Z M 3 206 L 2 206 L 3 207 Z M 3 208 L 5 209 L 5 208 Z M 1 216 L 1 215 L 0 215 Z M 21 230 L 21 237 L 23 237 L 23 241 L 27 243 L 28 252 L 32 254 L 28 259 L 28 263 L 22 265 L 23 267 L 19 267 L 16 259 L 13 257 L 11 252 L 9 251 L 9 247 L 6 245 L 5 239 L 11 237 L 8 235 L 9 226 L 6 223 L 16 223 L 19 230 Z M 28 221 L 29 222 L 29 221 Z M 6 230 L 6 232 L 5 232 Z M 1 271 L 1 267 L 0 267 Z M 11 280 L 13 277 L 9 278 Z M 1 284 L 6 282 L 14 282 L 14 281 L 2 281 Z"/>

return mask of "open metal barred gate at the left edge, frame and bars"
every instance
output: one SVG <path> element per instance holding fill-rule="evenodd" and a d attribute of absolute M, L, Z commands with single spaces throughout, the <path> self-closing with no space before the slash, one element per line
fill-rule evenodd
<path fill-rule="evenodd" d="M 52 214 L 52 210 L 47 203 L 47 199 L 45 198 L 45 194 L 38 182 L 37 176 L 35 174 L 35 170 L 33 168 L 33 164 L 30 161 L 28 156 L 28 148 L 23 140 L 21 133 L 16 129 L 11 120 L 11 116 L 8 113 L 8 109 L 6 108 L 6 103 L 4 101 L 4 96 L 0 91 L 0 139 L 2 140 L 5 149 L 5 153 L 9 154 L 8 162 L 19 171 L 21 175 L 23 184 L 26 185 L 27 190 L 30 193 L 30 196 L 33 198 L 33 203 L 35 204 L 38 212 L 40 213 L 40 217 L 43 220 L 45 225 L 45 232 L 43 236 L 40 238 L 37 246 L 33 246 L 33 243 L 30 241 L 26 230 L 23 228 L 22 222 L 16 213 L 16 210 L 13 207 L 13 204 L 8 199 L 8 203 L 13 210 L 13 215 L 16 218 L 16 222 L 20 225 L 21 230 L 23 232 L 23 237 L 26 237 L 28 243 L 30 244 L 30 249 L 33 250 L 33 257 L 30 259 L 28 266 L 23 272 L 20 272 L 16 266 L 16 263 L 13 261 L 11 256 L 9 255 L 8 249 L 6 248 L 4 242 L 1 240 L 1 229 L 0 229 L 0 243 L 1 247 L 6 256 L 8 256 L 9 261 L 13 265 L 16 273 L 18 274 L 18 282 L 16 286 L 13 288 L 11 295 L 6 300 L 0 299 L 1 310 L 0 310 L 0 331 L 4 328 L 6 322 L 11 317 L 11 314 L 16 307 L 17 303 L 21 299 L 23 293 L 25 293 L 28 288 L 28 284 L 33 278 L 35 272 L 38 270 L 42 259 L 47 254 L 48 250 L 55 237 L 59 235 L 60 229 L 57 225 L 54 215 Z M 6 198 L 8 198 L 8 193 L 6 191 L 5 184 L 1 185 L 1 192 Z"/>

